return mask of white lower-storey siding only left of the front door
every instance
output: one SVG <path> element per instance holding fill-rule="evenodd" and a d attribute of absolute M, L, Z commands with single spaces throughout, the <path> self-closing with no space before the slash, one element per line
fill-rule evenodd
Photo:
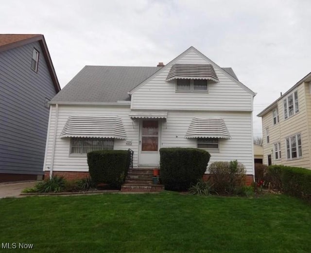
<path fill-rule="evenodd" d="M 46 163 L 44 170 L 49 170 L 52 159 L 53 136 L 55 131 L 55 106 L 51 106 L 50 131 L 47 138 Z M 75 116 L 119 116 L 126 131 L 126 140 L 114 139 L 114 149 L 128 148 L 134 151 L 134 163 L 138 161 L 138 130 L 137 121 L 132 121 L 128 116 L 129 107 L 104 107 L 104 106 L 59 106 L 56 143 L 54 151 L 53 170 L 59 171 L 88 171 L 86 155 L 70 155 L 70 139 L 60 138 L 60 134 L 71 115 Z M 126 145 L 128 142 L 131 145 Z"/>

